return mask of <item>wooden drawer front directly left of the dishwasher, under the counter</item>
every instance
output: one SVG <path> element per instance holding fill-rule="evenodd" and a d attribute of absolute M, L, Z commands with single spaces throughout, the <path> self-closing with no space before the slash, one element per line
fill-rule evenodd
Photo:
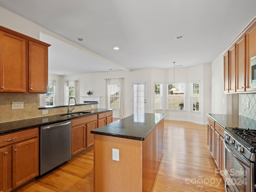
<path fill-rule="evenodd" d="M 30 138 L 38 137 L 38 128 L 11 133 L 8 135 L 0 136 L 0 146 L 14 144 L 16 142 L 24 141 Z"/>

